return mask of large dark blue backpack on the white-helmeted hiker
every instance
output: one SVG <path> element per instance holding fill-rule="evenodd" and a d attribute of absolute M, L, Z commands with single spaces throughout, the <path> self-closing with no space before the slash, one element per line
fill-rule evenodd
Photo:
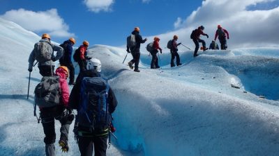
<path fill-rule="evenodd" d="M 100 77 L 84 77 L 80 89 L 77 123 L 85 128 L 108 128 L 110 112 L 107 97 L 110 85 Z"/>

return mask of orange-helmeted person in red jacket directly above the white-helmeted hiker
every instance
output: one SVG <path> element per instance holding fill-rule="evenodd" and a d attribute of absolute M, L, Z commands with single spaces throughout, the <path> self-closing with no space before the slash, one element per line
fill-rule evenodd
<path fill-rule="evenodd" d="M 80 66 L 80 72 L 85 71 L 86 70 L 86 55 L 87 55 L 87 48 L 89 46 L 89 42 L 84 40 L 84 42 L 82 42 L 82 45 L 77 49 L 77 51 L 79 51 L 79 54 L 77 56 L 77 63 Z"/>

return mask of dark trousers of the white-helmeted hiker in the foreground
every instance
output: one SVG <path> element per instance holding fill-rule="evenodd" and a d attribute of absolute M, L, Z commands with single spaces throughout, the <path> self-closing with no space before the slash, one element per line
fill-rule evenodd
<path fill-rule="evenodd" d="M 107 135 L 101 137 L 79 137 L 78 146 L 81 156 L 105 156 L 107 150 Z M 93 147 L 94 146 L 94 147 Z"/>

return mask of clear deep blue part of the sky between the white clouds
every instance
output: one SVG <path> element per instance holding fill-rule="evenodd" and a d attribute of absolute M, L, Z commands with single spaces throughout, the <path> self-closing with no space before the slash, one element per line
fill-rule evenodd
<path fill-rule="evenodd" d="M 177 17 L 187 17 L 202 0 L 140 0 L 114 1 L 110 10 L 93 12 L 83 1 L 27 1 L 1 0 L 0 15 L 9 10 L 47 11 L 52 8 L 67 24 L 69 33 L 74 33 L 78 41 L 89 40 L 91 44 L 109 44 L 119 46 L 135 26 L 140 26 L 143 35 L 155 35 L 174 30 Z M 43 31 L 36 31 L 38 35 Z M 56 37 L 53 40 L 62 42 L 67 37 Z"/>

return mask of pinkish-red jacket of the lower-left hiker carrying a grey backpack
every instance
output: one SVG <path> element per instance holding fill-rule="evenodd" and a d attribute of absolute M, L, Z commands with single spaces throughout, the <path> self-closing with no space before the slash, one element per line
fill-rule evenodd
<path fill-rule="evenodd" d="M 70 92 L 67 83 L 66 73 L 64 73 L 63 69 L 57 69 L 55 75 L 60 77 L 59 78 L 59 88 L 61 89 L 60 103 L 67 107 L 69 103 Z"/>

